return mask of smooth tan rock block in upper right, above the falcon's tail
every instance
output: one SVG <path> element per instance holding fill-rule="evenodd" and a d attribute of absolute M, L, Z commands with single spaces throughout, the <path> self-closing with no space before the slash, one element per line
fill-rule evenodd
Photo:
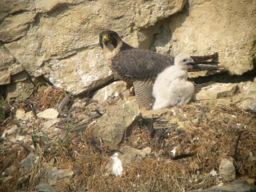
<path fill-rule="evenodd" d="M 151 49 L 171 55 L 217 51 L 219 65 L 241 75 L 253 69 L 255 6 L 256 1 L 189 1 L 184 11 L 166 19 Z"/>

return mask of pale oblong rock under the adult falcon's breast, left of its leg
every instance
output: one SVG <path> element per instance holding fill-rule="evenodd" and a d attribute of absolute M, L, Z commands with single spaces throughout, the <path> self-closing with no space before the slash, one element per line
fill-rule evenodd
<path fill-rule="evenodd" d="M 110 97 L 118 97 L 119 94 L 124 94 L 125 90 L 126 83 L 124 81 L 113 82 L 95 93 L 92 99 L 98 101 L 107 100 Z"/>

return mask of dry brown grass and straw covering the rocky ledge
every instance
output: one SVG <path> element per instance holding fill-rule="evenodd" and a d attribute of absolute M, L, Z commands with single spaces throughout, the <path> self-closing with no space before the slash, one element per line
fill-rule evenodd
<path fill-rule="evenodd" d="M 44 97 L 42 97 L 44 95 Z M 54 95 L 54 96 L 52 96 Z M 39 109 L 53 107 L 63 98 L 63 92 L 53 87 L 39 87 L 34 95 Z M 49 102 L 49 100 L 54 102 Z M 238 178 L 256 179 L 255 162 L 249 160 L 249 152 L 256 153 L 256 115 L 235 108 L 234 106 L 198 106 L 195 103 L 178 107 L 187 119 L 178 114 L 175 118 L 186 121 L 185 131 L 176 129 L 158 130 L 155 137 L 148 133 L 148 125 L 136 125 L 126 141 L 121 143 L 142 149 L 151 147 L 153 154 L 146 159 L 132 162 L 124 167 L 121 177 L 104 177 L 105 166 L 110 161 L 110 152 L 104 143 L 95 148 L 92 143 L 93 123 L 82 132 L 70 132 L 76 126 L 73 121 L 67 125 L 65 139 L 51 138 L 43 142 L 39 160 L 22 186 L 13 183 L 13 189 L 33 190 L 38 183 L 38 175 L 45 164 L 52 158 L 57 159 L 54 166 L 60 169 L 72 169 L 75 175 L 69 182 L 60 182 L 57 191 L 189 191 L 208 188 L 220 182 L 218 177 L 211 177 L 212 169 L 219 169 L 222 158 L 233 157 L 238 171 Z M 171 111 L 171 110 L 170 110 Z M 159 115 L 161 119 L 172 121 L 171 112 Z M 75 119 L 75 118 L 74 118 Z M 154 122 L 155 127 L 168 126 L 169 122 Z M 239 132 L 243 131 L 238 142 L 237 156 L 235 146 Z M 165 134 L 168 137 L 161 138 Z M 30 143 L 31 144 L 31 143 Z M 194 156 L 173 161 L 170 151 L 177 147 L 177 153 L 195 153 Z M 3 159 L 7 158 L 3 155 Z M 20 157 L 25 157 L 22 150 Z M 1 165 L 4 161 L 1 162 Z M 20 175 L 17 174 L 17 178 Z M 20 185 L 20 183 L 19 183 Z M 2 191 L 12 191 L 6 186 Z M 1 190 L 0 190 L 1 191 Z"/>

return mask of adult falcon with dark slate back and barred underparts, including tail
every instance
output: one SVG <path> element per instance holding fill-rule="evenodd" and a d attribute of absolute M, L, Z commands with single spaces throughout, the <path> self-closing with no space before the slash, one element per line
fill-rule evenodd
<path fill-rule="evenodd" d="M 154 103 L 152 87 L 155 78 L 166 67 L 174 64 L 174 58 L 154 51 L 132 47 L 123 42 L 115 31 L 102 31 L 99 38 L 103 55 L 115 77 L 132 83 L 140 107 L 151 108 Z M 195 64 L 217 57 L 217 53 L 203 57 L 191 56 Z M 193 68 L 205 70 L 219 67 L 199 64 Z"/>

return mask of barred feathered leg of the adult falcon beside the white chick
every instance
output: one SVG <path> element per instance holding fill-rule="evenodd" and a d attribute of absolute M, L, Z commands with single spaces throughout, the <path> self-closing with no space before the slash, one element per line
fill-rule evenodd
<path fill-rule="evenodd" d="M 151 109 L 154 103 L 152 96 L 153 81 L 151 78 L 136 80 L 133 82 L 135 96 L 140 107 Z"/>

